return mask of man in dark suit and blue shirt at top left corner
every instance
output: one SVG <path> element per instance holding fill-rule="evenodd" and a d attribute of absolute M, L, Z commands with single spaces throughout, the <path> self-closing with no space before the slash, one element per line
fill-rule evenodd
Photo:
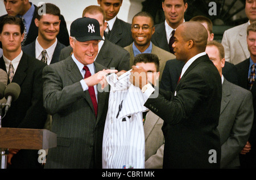
<path fill-rule="evenodd" d="M 32 43 L 36 37 L 38 36 L 38 27 L 35 26 L 35 17 L 36 17 L 36 9 L 37 7 L 33 5 L 28 0 L 16 0 L 13 3 L 11 0 L 3 1 L 5 4 L 5 9 L 7 11 L 6 15 L 0 17 L 0 20 L 7 16 L 18 16 L 20 18 L 24 18 L 24 25 L 26 27 L 27 35 L 24 40 L 24 45 Z M 40 12 L 43 10 L 40 9 Z M 69 45 L 69 35 L 67 30 L 67 24 L 63 15 L 60 16 L 60 33 L 57 35 L 57 39 L 60 40 L 60 43 L 64 45 Z"/>

